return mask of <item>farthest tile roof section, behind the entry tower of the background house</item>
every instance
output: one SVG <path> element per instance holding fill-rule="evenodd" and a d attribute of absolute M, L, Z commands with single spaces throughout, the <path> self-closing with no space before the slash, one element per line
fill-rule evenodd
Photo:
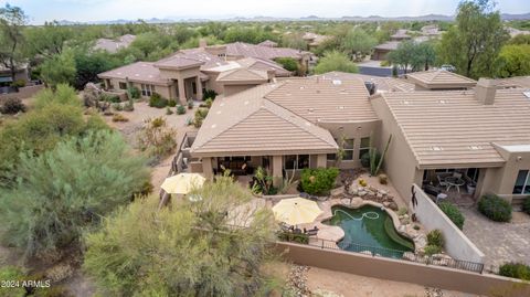
<path fill-rule="evenodd" d="M 256 44 L 250 44 L 244 42 L 234 42 L 226 44 L 226 55 L 229 56 L 242 56 L 242 57 L 261 57 L 274 60 L 277 57 L 293 57 L 300 59 L 303 54 L 310 54 L 309 52 L 303 52 L 288 47 L 269 47 Z"/>

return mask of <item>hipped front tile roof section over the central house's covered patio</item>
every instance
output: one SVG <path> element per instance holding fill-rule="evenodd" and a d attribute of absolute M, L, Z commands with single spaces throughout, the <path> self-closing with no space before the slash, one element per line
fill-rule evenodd
<path fill-rule="evenodd" d="M 237 156 L 337 151 L 338 146 L 328 130 L 265 98 L 284 84 L 261 85 L 216 99 L 191 152 Z"/>

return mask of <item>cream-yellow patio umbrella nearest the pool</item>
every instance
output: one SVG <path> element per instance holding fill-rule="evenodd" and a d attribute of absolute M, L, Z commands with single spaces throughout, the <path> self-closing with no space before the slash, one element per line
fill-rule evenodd
<path fill-rule="evenodd" d="M 273 212 L 276 220 L 290 225 L 312 223 L 322 213 L 317 202 L 301 197 L 279 201 L 274 205 Z"/>

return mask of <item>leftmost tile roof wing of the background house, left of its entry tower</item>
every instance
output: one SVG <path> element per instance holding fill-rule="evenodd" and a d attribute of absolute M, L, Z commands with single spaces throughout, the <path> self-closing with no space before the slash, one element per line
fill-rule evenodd
<path fill-rule="evenodd" d="M 160 76 L 160 70 L 151 62 L 136 62 L 112 71 L 99 73 L 99 78 L 128 78 L 131 82 L 148 83 L 153 85 L 170 85 L 169 79 Z"/>

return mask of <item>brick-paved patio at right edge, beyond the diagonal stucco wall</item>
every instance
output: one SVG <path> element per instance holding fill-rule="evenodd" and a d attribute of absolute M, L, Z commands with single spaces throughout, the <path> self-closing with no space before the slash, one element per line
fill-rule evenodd
<path fill-rule="evenodd" d="M 530 216 L 515 212 L 511 223 L 490 221 L 476 208 L 460 208 L 464 233 L 486 255 L 486 269 L 497 271 L 506 262 L 530 265 Z"/>

